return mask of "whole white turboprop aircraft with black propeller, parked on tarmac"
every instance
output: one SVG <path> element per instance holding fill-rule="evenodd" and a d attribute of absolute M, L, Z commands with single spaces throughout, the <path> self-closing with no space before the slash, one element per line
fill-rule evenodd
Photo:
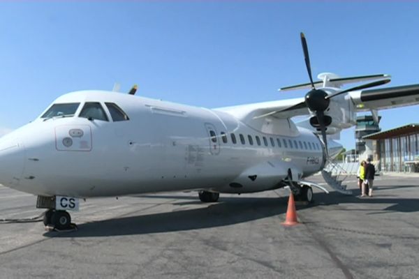
<path fill-rule="evenodd" d="M 357 112 L 415 105 L 419 84 L 369 89 L 388 75 L 311 75 L 281 90 L 310 89 L 304 98 L 206 109 L 114 91 L 77 91 L 54 100 L 37 119 L 0 139 L 0 183 L 38 196 L 44 224 L 71 225 L 79 199 L 197 190 L 203 202 L 219 193 L 290 187 L 311 202 L 304 178 L 322 171 L 341 149 L 328 135 L 355 125 Z M 341 89 L 351 82 L 367 84 Z M 295 123 L 293 116 L 308 115 Z M 378 121 L 378 120 L 377 120 Z M 348 193 L 322 172 L 332 188 Z"/>

